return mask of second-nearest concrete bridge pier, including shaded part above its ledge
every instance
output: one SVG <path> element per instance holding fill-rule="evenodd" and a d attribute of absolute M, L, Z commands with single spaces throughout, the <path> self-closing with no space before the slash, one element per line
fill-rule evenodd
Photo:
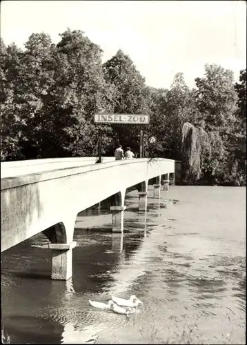
<path fill-rule="evenodd" d="M 124 231 L 124 206 L 125 191 L 112 196 L 110 211 L 112 213 L 112 232 L 122 233 Z"/>

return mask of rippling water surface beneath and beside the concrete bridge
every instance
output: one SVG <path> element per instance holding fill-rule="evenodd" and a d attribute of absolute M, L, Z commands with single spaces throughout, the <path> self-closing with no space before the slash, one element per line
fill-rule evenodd
<path fill-rule="evenodd" d="M 146 214 L 133 191 L 126 206 L 124 235 L 106 210 L 79 214 L 68 282 L 47 279 L 43 235 L 3 253 L 11 342 L 245 344 L 246 188 L 171 186 Z M 128 319 L 88 304 L 110 293 L 144 305 Z"/>

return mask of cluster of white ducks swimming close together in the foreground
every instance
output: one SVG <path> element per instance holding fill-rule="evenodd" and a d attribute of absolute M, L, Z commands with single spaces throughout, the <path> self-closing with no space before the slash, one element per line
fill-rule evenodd
<path fill-rule="evenodd" d="M 143 304 L 135 295 L 130 296 L 130 299 L 119 298 L 112 295 L 112 299 L 110 299 L 107 304 L 101 302 L 93 302 L 90 301 L 90 299 L 89 303 L 91 306 L 95 306 L 95 308 L 109 309 L 110 311 L 114 311 L 115 313 L 125 315 L 133 313 L 130 308 L 135 308 L 139 306 L 139 304 Z M 124 306 L 127 308 L 123 308 Z"/>

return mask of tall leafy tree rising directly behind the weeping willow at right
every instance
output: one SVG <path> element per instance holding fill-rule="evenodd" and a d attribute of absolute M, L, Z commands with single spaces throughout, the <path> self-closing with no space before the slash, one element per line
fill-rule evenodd
<path fill-rule="evenodd" d="M 237 92 L 233 72 L 221 66 L 206 65 L 197 85 L 199 126 L 213 139 L 215 147 L 210 159 L 206 159 L 203 177 L 210 183 L 223 183 L 230 176 L 235 159 L 232 155 L 233 128 L 237 129 Z M 235 135 L 234 135 L 235 136 Z"/>

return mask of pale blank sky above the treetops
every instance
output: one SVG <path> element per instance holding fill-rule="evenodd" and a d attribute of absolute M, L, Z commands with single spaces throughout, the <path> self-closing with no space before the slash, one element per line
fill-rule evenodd
<path fill-rule="evenodd" d="M 103 49 L 130 55 L 154 87 L 170 87 L 177 72 L 188 86 L 205 63 L 235 72 L 246 67 L 246 1 L 2 1 L 1 37 L 23 48 L 32 32 L 57 43 L 66 28 L 82 30 Z"/>

